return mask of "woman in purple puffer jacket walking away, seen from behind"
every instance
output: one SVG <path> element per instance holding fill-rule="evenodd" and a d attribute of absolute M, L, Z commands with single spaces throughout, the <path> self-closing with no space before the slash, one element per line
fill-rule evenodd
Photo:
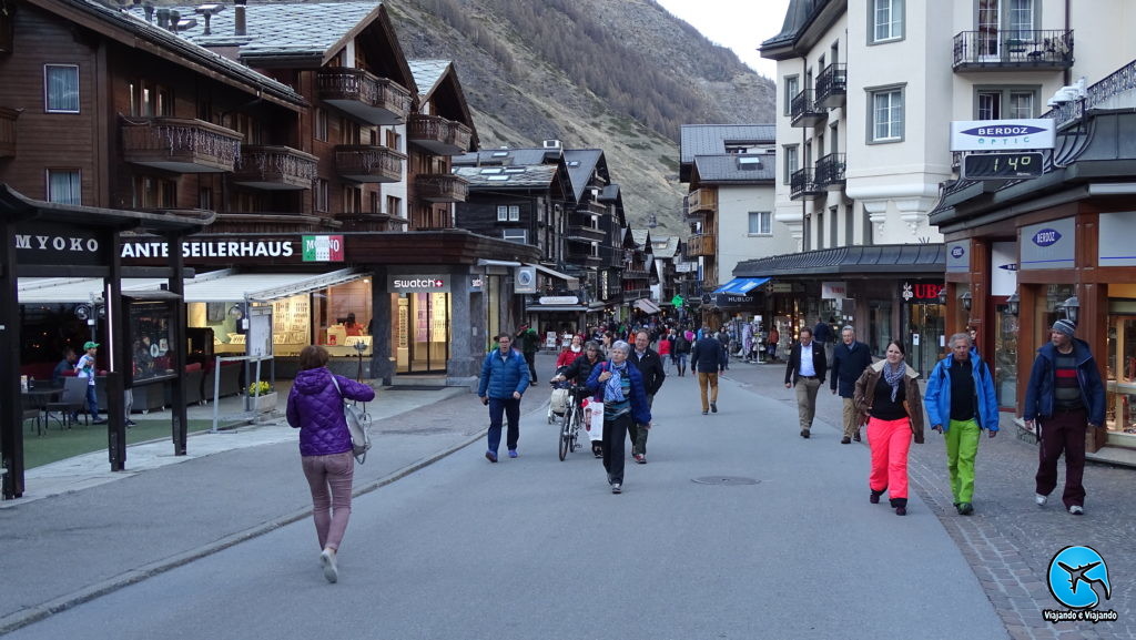
<path fill-rule="evenodd" d="M 328 582 L 339 580 L 335 554 L 351 517 L 354 457 L 343 400 L 375 399 L 370 387 L 327 371 L 327 350 L 308 346 L 300 351 L 300 373 L 287 396 L 287 423 L 300 430 L 303 475 L 311 487 L 311 516 L 319 537 L 319 562 Z M 339 382 L 335 388 L 332 379 Z M 341 394 L 342 391 L 342 394 Z"/>

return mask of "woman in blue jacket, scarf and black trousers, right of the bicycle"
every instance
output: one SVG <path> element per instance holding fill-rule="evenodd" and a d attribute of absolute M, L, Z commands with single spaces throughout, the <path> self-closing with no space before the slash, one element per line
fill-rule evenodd
<path fill-rule="evenodd" d="M 646 388 L 638 367 L 627 361 L 630 351 L 629 344 L 616 341 L 609 354 L 611 359 L 592 369 L 585 385 L 595 393 L 598 401 L 603 401 L 603 468 L 608 472 L 612 493 L 620 493 L 624 488 L 627 426 L 635 421 L 643 429 L 651 429 Z"/>

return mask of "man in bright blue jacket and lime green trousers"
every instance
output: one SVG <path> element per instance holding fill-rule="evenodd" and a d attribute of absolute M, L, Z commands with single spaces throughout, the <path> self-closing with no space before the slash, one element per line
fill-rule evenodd
<path fill-rule="evenodd" d="M 924 406 L 932 429 L 946 437 L 946 468 L 959 515 L 975 512 L 975 456 L 982 430 L 997 435 L 997 396 L 986 363 L 978 357 L 969 333 L 955 333 L 951 355 L 935 365 L 927 379 Z"/>

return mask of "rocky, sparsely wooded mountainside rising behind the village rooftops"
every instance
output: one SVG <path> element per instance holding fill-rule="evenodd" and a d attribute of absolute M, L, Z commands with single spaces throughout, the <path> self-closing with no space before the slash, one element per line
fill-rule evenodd
<path fill-rule="evenodd" d="M 680 125 L 774 122 L 774 82 L 653 0 L 386 6 L 408 58 L 454 61 L 482 148 L 603 149 L 628 223 L 653 216 L 654 235 L 685 234 Z"/>

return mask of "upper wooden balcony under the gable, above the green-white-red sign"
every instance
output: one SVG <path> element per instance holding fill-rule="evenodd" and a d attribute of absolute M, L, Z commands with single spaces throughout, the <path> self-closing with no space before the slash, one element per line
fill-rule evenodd
<path fill-rule="evenodd" d="M 410 91 L 364 69 L 328 67 L 316 75 L 320 100 L 374 125 L 402 124 L 410 115 Z"/>

